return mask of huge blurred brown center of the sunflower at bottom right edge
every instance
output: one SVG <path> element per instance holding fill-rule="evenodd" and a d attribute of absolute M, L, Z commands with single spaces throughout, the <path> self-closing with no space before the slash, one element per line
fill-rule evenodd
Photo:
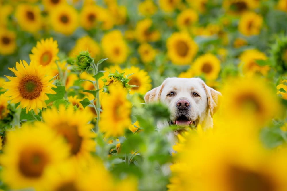
<path fill-rule="evenodd" d="M 228 184 L 233 191 L 272 191 L 277 190 L 274 180 L 267 174 L 250 169 L 230 166 Z"/>

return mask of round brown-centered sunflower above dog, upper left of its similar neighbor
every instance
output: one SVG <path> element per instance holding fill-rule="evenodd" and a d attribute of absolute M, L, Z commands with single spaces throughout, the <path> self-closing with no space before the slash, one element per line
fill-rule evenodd
<path fill-rule="evenodd" d="M 198 46 L 187 33 L 175 32 L 166 42 L 167 54 L 174 64 L 190 64 Z"/>

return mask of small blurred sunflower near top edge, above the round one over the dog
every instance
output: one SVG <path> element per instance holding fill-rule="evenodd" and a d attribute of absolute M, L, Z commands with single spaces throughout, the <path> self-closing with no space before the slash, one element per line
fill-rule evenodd
<path fill-rule="evenodd" d="M 179 29 L 188 29 L 198 20 L 198 14 L 192 9 L 185 9 L 177 15 L 177 27 Z"/>

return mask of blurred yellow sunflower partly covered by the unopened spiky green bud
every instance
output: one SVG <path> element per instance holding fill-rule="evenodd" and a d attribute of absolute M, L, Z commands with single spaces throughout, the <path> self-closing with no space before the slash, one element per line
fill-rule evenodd
<path fill-rule="evenodd" d="M 92 58 L 96 58 L 96 56 L 100 54 L 100 47 L 91 37 L 83 36 L 76 41 L 76 44 L 70 51 L 69 56 L 75 58 L 82 51 L 88 51 Z"/>

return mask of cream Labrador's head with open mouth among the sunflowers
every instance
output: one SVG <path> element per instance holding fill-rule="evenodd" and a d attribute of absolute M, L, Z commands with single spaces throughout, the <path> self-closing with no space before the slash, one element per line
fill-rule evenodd
<path fill-rule="evenodd" d="M 196 126 L 207 118 L 212 120 L 220 98 L 221 93 L 208 87 L 200 78 L 167 78 L 144 97 L 146 103 L 160 101 L 166 104 L 171 112 L 169 123 L 181 127 Z"/>

